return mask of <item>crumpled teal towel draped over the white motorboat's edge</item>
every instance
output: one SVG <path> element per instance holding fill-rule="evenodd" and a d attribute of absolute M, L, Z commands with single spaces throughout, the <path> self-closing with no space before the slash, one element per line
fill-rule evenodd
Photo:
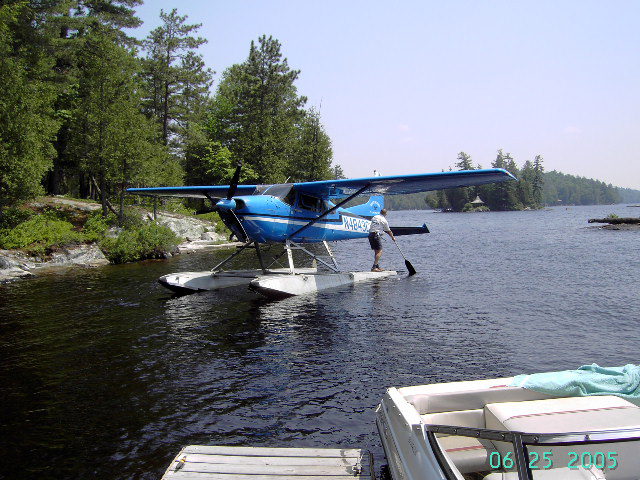
<path fill-rule="evenodd" d="M 562 397 L 616 395 L 640 402 L 640 366 L 600 367 L 595 363 L 577 370 L 518 375 L 511 386 Z"/>

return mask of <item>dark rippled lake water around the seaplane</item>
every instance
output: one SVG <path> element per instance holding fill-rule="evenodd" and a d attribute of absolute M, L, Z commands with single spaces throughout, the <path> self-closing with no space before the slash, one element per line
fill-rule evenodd
<path fill-rule="evenodd" d="M 223 252 L 0 286 L 0 478 L 159 478 L 189 444 L 362 447 L 384 463 L 386 387 L 638 363 L 640 231 L 532 212 L 390 212 L 418 274 L 266 301 L 176 297 L 165 273 Z M 366 239 L 335 245 L 368 270 Z M 635 352 L 635 353 L 634 353 Z"/>

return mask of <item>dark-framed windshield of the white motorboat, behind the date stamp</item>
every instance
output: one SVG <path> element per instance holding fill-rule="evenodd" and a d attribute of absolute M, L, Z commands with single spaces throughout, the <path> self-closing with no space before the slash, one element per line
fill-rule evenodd
<path fill-rule="evenodd" d="M 523 433 L 423 425 L 451 480 L 636 480 L 640 428 Z"/>

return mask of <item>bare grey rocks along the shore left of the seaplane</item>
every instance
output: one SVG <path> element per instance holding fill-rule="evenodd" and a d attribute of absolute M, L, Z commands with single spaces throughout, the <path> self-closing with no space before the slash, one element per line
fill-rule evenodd
<path fill-rule="evenodd" d="M 46 200 L 52 204 L 62 204 L 78 210 L 90 211 L 100 208 L 96 203 L 77 202 L 66 198 L 48 197 Z M 149 219 L 153 218 L 150 212 L 145 215 Z M 215 224 L 212 222 L 166 212 L 159 213 L 156 221 L 166 225 L 185 240 L 174 251 L 165 252 L 165 258 L 176 254 L 230 248 L 237 244 L 228 242 L 224 234 L 216 233 Z M 65 246 L 52 252 L 47 258 L 36 258 L 19 250 L 0 250 L 0 284 L 35 277 L 52 269 L 95 268 L 109 264 L 109 260 L 97 244 Z"/>

